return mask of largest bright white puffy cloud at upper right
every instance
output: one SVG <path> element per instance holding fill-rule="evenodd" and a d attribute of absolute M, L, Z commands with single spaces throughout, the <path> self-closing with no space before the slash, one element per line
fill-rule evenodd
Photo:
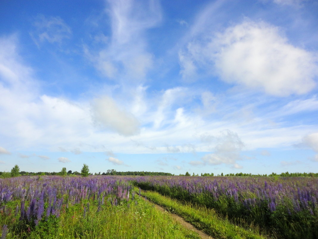
<path fill-rule="evenodd" d="M 208 73 L 214 68 L 221 80 L 275 96 L 305 94 L 316 85 L 314 54 L 291 45 L 278 27 L 245 20 L 210 38 L 189 43 L 180 61 L 195 62 Z M 187 66 L 181 62 L 181 68 L 183 73 Z"/>

